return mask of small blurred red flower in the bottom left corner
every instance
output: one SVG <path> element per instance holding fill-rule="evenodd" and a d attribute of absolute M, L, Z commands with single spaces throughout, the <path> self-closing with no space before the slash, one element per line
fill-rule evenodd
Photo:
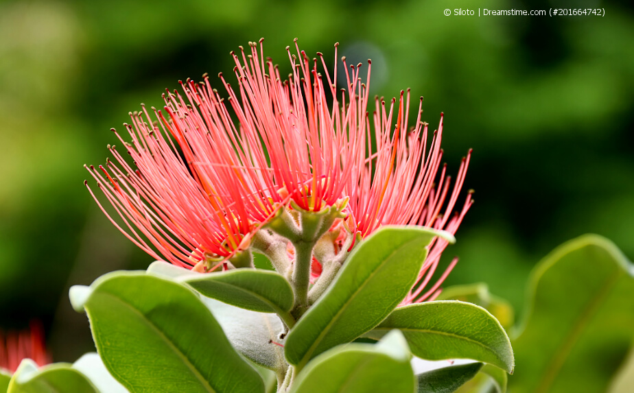
<path fill-rule="evenodd" d="M 0 368 L 13 373 L 23 359 L 32 359 L 38 366 L 51 361 L 44 345 L 44 330 L 38 322 L 31 322 L 30 330 L 19 333 L 0 331 Z"/>

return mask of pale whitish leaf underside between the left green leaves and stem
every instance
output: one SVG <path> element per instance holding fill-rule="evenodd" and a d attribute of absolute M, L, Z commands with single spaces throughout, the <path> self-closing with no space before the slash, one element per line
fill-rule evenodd
<path fill-rule="evenodd" d="M 279 337 L 284 326 L 277 315 L 240 309 L 211 298 L 202 298 L 202 302 L 239 353 L 269 370 L 285 372 L 284 349 L 272 343 L 284 344 Z"/>

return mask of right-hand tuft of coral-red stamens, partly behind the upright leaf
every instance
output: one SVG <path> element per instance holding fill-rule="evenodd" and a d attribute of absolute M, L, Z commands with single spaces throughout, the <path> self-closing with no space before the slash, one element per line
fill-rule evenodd
<path fill-rule="evenodd" d="M 447 166 L 441 166 L 443 150 L 441 141 L 443 136 L 443 116 L 438 130 L 427 150 L 427 123 L 421 121 L 423 99 L 419 104 L 416 125 L 407 132 L 409 115 L 409 91 L 405 99 L 403 113 L 403 92 L 399 100 L 397 126 L 392 139 L 388 139 L 388 132 L 384 137 L 377 137 L 377 152 L 371 156 L 365 166 L 359 166 L 355 176 L 349 179 L 346 188 L 350 197 L 349 227 L 354 228 L 362 237 L 366 237 L 382 225 L 420 225 L 445 230 L 451 235 L 456 233 L 458 226 L 473 204 L 471 191 L 462 204 L 460 211 L 454 212 L 458 195 L 465 181 L 465 174 L 469 166 L 471 150 L 462 158 L 458 176 L 451 190 L 451 176 L 446 176 Z M 375 130 L 389 130 L 395 100 L 392 99 L 390 110 L 387 112 L 384 103 L 375 112 Z M 374 176 L 372 176 L 374 174 Z M 438 187 L 436 184 L 440 184 Z M 443 250 L 448 242 L 445 239 L 434 238 L 430 244 L 430 251 L 419 272 L 416 284 L 410 294 L 403 300 L 403 305 L 412 302 L 433 300 L 441 292 L 438 289 L 458 262 L 454 258 L 449 267 L 430 289 L 425 287 L 436 272 Z"/>

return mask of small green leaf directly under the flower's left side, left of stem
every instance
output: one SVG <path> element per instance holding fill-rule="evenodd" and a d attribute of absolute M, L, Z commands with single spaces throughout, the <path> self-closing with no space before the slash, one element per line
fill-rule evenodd
<path fill-rule="evenodd" d="M 286 279 L 269 270 L 235 269 L 177 278 L 208 298 L 261 313 L 287 313 L 293 307 L 293 289 Z"/>

